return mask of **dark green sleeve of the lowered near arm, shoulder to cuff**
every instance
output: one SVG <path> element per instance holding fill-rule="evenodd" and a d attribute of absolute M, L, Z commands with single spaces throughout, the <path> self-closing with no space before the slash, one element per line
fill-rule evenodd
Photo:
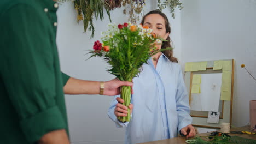
<path fill-rule="evenodd" d="M 34 143 L 49 131 L 67 127 L 55 101 L 53 42 L 44 15 L 30 5 L 15 5 L 2 17 L 2 41 L 8 47 L 1 47 L 1 76 L 20 128 Z"/>

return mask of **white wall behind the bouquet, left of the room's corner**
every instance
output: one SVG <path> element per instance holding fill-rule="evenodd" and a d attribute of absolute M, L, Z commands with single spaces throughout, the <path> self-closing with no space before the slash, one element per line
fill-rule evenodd
<path fill-rule="evenodd" d="M 144 14 L 156 8 L 156 1 L 147 1 Z M 165 11 L 164 11 L 165 12 Z M 165 12 L 172 25 L 171 39 L 177 49 L 175 56 L 181 56 L 180 47 L 180 20 L 179 11 L 176 19 L 171 19 L 168 10 Z M 94 20 L 95 37 L 90 39 L 91 32 L 83 33 L 83 23 L 76 22 L 76 13 L 73 3 L 68 1 L 60 5 L 57 11 L 58 29 L 57 45 L 59 49 L 61 69 L 66 74 L 83 80 L 107 81 L 114 76 L 106 72 L 107 64 L 100 58 L 91 58 L 85 61 L 84 56 L 92 50 L 94 41 L 100 40 L 100 32 L 105 31 L 109 23 L 105 13 L 103 21 Z M 111 12 L 112 22 L 126 22 L 128 16 L 123 14 L 123 9 Z M 124 129 L 115 128 L 115 124 L 107 116 L 107 110 L 113 97 L 102 95 L 66 95 L 69 132 L 71 142 L 79 144 L 115 144 L 123 143 Z"/>

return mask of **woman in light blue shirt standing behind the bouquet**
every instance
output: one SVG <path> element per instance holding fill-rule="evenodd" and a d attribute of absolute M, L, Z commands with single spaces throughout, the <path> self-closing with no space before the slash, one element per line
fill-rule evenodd
<path fill-rule="evenodd" d="M 158 45 L 159 49 L 171 47 L 171 28 L 165 14 L 150 11 L 141 24 L 169 40 Z M 142 71 L 133 83 L 134 94 L 129 106 L 133 109 L 131 121 L 122 123 L 117 119 L 117 116 L 126 116 L 127 113 L 127 107 L 120 104 L 124 102 L 120 95 L 116 96 L 108 110 L 108 116 L 117 127 L 126 127 L 126 144 L 170 139 L 177 137 L 178 133 L 195 136 L 182 71 L 172 50 L 152 56 L 148 64 L 142 65 Z"/>

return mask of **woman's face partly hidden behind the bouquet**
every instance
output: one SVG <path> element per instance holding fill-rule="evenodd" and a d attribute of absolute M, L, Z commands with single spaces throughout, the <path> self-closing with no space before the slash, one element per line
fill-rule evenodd
<path fill-rule="evenodd" d="M 148 26 L 153 29 L 153 32 L 162 39 L 167 39 L 169 35 L 169 33 L 166 33 L 165 19 L 159 14 L 150 14 L 146 16 L 143 26 Z"/>

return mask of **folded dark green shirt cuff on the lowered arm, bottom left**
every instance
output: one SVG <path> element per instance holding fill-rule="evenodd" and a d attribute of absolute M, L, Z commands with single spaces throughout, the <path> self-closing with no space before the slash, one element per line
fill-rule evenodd
<path fill-rule="evenodd" d="M 50 131 L 67 128 L 67 124 L 64 122 L 57 106 L 22 119 L 20 126 L 30 143 L 40 140 L 43 135 Z"/>

